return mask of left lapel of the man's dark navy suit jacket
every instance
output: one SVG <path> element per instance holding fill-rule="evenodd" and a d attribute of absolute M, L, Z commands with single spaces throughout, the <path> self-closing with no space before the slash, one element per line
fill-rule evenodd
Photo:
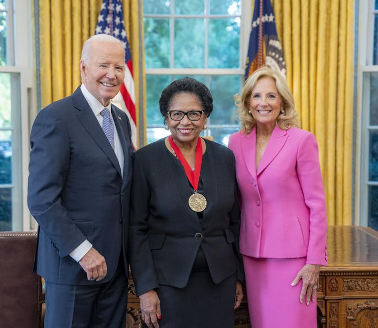
<path fill-rule="evenodd" d="M 79 110 L 76 114 L 77 118 L 83 124 L 84 128 L 90 134 L 98 147 L 109 157 L 110 161 L 112 162 L 120 176 L 122 176 L 116 153 L 110 146 L 109 141 L 102 131 L 100 124 L 98 124 L 98 121 L 95 118 L 91 107 L 89 107 L 87 101 L 85 100 L 80 87 L 77 88 L 72 94 L 72 100 L 74 107 Z"/>

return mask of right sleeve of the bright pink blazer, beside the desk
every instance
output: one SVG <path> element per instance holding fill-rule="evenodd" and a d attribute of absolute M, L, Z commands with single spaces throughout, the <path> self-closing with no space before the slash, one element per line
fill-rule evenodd
<path fill-rule="evenodd" d="M 297 173 L 310 209 L 310 239 L 306 263 L 327 265 L 327 213 L 315 136 L 307 132 L 298 148 Z"/>

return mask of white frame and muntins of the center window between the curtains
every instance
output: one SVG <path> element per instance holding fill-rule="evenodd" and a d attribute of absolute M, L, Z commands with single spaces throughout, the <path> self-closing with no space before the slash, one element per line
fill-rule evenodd
<path fill-rule="evenodd" d="M 205 63 L 207 66 L 208 60 L 208 39 L 207 31 L 209 29 L 209 18 L 232 18 L 238 17 L 239 15 L 209 15 L 209 8 L 207 7 L 209 0 L 205 1 L 206 14 L 205 15 L 175 15 L 174 13 L 174 0 L 171 0 L 171 11 L 169 14 L 143 14 L 145 18 L 169 18 L 172 22 L 174 18 L 203 18 L 205 19 Z M 170 24 L 170 68 L 146 68 L 146 75 L 205 75 L 207 77 L 211 75 L 240 75 L 242 78 L 245 74 L 245 62 L 247 58 L 249 37 L 251 32 L 251 21 L 252 21 L 252 1 L 251 0 L 241 0 L 241 24 L 240 24 L 240 39 L 239 39 L 239 68 L 174 68 L 174 24 Z M 241 79 L 241 81 L 244 81 Z M 240 90 L 242 88 L 242 83 L 240 85 Z M 220 128 L 239 128 L 239 124 L 209 124 L 209 129 L 204 131 L 204 135 L 209 135 L 211 129 Z M 164 125 L 161 124 L 146 124 L 147 129 L 151 128 L 163 128 Z M 144 141 L 146 143 L 147 140 Z"/>

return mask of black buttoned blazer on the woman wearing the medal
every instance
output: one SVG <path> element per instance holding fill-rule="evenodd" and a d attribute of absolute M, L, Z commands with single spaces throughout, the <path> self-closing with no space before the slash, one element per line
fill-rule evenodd
<path fill-rule="evenodd" d="M 128 249 L 138 296 L 159 284 L 185 287 L 200 245 L 214 283 L 235 271 L 244 280 L 234 155 L 205 142 L 201 179 L 207 207 L 201 221 L 188 205 L 192 188 L 184 168 L 164 139 L 134 154 Z"/>

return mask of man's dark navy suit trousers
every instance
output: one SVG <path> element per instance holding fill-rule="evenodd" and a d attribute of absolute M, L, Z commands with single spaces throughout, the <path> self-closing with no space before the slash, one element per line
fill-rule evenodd
<path fill-rule="evenodd" d="M 46 281 L 45 328 L 125 328 L 126 306 L 127 277 L 121 260 L 114 276 L 103 284 Z"/>

